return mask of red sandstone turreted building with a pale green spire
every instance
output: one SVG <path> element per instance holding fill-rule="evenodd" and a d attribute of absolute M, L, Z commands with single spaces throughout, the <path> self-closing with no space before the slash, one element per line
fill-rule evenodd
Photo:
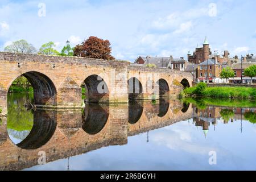
<path fill-rule="evenodd" d="M 208 59 L 217 59 L 218 63 L 222 64 L 224 61 L 229 60 L 229 51 L 224 51 L 224 55 L 220 55 L 218 51 L 214 51 L 214 53 L 212 53 L 209 48 L 207 37 L 205 37 L 203 47 L 197 46 L 193 55 L 188 51 L 188 62 L 200 64 Z"/>

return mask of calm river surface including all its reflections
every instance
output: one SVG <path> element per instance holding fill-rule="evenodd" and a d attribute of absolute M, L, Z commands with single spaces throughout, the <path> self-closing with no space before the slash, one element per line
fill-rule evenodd
<path fill-rule="evenodd" d="M 31 98 L 9 94 L 8 117 L 0 121 L 2 170 L 256 169 L 253 101 L 168 98 L 27 110 Z M 42 151 L 46 164 L 39 165 Z"/>

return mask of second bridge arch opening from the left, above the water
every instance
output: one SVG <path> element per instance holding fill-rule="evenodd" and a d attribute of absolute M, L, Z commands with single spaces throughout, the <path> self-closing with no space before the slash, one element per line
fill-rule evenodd
<path fill-rule="evenodd" d="M 90 75 L 85 80 L 85 90 L 88 91 L 89 102 L 109 102 L 109 88 L 106 82 L 98 75 Z"/>

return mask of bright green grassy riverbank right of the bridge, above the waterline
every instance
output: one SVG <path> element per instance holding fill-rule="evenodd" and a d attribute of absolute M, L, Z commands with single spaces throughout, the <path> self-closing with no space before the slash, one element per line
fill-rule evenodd
<path fill-rule="evenodd" d="M 181 93 L 183 97 L 212 97 L 212 98 L 256 98 L 256 88 L 250 87 L 207 87 L 207 84 L 201 82 L 194 87 L 187 88 Z"/>

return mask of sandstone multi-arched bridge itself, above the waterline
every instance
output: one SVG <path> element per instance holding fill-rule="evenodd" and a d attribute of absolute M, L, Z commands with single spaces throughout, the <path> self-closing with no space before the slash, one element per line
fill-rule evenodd
<path fill-rule="evenodd" d="M 131 66 L 127 61 L 0 52 L 2 114 L 6 113 L 7 92 L 21 75 L 34 88 L 35 105 L 43 107 L 81 107 L 81 85 L 88 90 L 88 102 L 108 103 L 173 97 L 183 86 L 192 85 L 191 73 Z"/>

